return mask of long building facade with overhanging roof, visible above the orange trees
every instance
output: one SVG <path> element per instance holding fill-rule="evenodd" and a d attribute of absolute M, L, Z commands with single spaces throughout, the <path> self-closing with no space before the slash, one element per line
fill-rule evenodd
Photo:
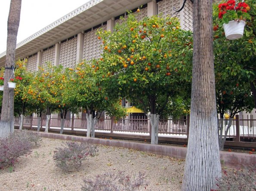
<path fill-rule="evenodd" d="M 90 0 L 58 21 L 43 28 L 17 44 L 16 59 L 28 59 L 31 72 L 50 62 L 55 66 L 73 68 L 83 59 L 99 58 L 101 42 L 97 39 L 98 29 L 113 30 L 127 16 L 127 10 L 135 12 L 137 19 L 152 15 L 173 15 L 180 19 L 182 29 L 192 30 L 192 1 L 175 14 L 183 0 Z M 136 10 L 140 9 L 137 13 Z M 0 54 L 0 66 L 4 66 L 5 52 Z"/>

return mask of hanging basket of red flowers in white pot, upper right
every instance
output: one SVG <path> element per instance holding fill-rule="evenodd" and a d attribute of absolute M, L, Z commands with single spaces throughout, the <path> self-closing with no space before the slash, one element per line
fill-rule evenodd
<path fill-rule="evenodd" d="M 219 4 L 219 19 L 223 22 L 227 39 L 240 39 L 243 36 L 245 21 L 250 19 L 248 11 L 250 6 L 243 0 L 228 0 L 227 3 Z"/>

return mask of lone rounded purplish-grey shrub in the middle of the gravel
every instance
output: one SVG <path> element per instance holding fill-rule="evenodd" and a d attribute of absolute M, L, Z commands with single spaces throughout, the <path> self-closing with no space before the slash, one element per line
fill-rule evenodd
<path fill-rule="evenodd" d="M 98 152 L 97 147 L 90 143 L 67 142 L 63 146 L 56 148 L 53 160 L 56 167 L 65 171 L 79 170 L 87 156 L 95 156 Z"/>

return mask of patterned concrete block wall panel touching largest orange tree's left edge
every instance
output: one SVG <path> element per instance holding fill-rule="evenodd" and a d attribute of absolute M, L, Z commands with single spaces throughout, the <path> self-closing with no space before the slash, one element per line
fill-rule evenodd
<path fill-rule="evenodd" d="M 100 54 L 102 54 L 102 41 L 96 35 L 97 30 L 100 29 L 107 30 L 107 25 L 103 25 L 84 34 L 83 59 L 91 60 L 93 58 L 99 58 Z"/>

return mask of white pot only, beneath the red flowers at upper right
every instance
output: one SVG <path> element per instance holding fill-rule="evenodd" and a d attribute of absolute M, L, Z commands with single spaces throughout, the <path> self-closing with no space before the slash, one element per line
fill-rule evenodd
<path fill-rule="evenodd" d="M 225 36 L 229 40 L 240 39 L 244 34 L 244 21 L 229 21 L 223 24 Z"/>

